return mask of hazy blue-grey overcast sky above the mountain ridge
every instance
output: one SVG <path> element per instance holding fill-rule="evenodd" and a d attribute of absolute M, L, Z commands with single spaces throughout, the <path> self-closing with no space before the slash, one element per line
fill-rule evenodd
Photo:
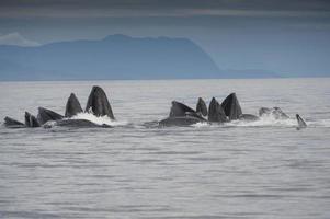
<path fill-rule="evenodd" d="M 0 44 L 35 46 L 117 33 L 191 38 L 221 69 L 330 72 L 327 0 L 0 1 Z M 311 62 L 304 66 L 306 60 Z"/>

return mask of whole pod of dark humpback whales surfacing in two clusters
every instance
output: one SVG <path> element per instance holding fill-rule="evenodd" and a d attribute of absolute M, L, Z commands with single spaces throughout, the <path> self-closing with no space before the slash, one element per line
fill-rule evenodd
<path fill-rule="evenodd" d="M 38 107 L 38 114 L 35 117 L 29 112 L 25 112 L 24 124 L 15 120 L 11 117 L 4 117 L 4 126 L 9 128 L 35 128 L 45 127 L 50 128 L 53 126 L 65 127 L 111 127 L 106 124 L 94 124 L 88 119 L 75 118 L 76 115 L 82 113 L 83 110 L 80 105 L 78 97 L 71 93 L 68 97 L 65 115 L 60 115 L 52 110 Z M 100 87 L 93 87 L 87 101 L 84 112 L 91 113 L 95 116 L 107 116 L 114 120 L 114 114 L 105 92 Z M 287 119 L 287 116 L 280 107 L 261 107 L 259 110 L 259 116 L 252 114 L 243 114 L 239 104 L 236 93 L 230 93 L 223 102 L 219 102 L 213 97 L 209 102 L 208 108 L 205 101 L 198 97 L 196 110 L 180 103 L 172 101 L 169 116 L 164 119 L 157 122 L 159 127 L 163 126 L 191 126 L 197 123 L 228 123 L 231 120 L 258 120 L 263 116 L 272 116 L 275 119 Z M 305 120 L 296 114 L 298 123 L 297 129 L 306 128 Z"/>

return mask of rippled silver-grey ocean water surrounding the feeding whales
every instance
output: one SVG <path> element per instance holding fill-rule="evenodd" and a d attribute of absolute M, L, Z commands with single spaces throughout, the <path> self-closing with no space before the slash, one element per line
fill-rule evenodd
<path fill-rule="evenodd" d="M 0 218 L 330 218 L 330 79 L 0 82 L 0 117 L 64 114 L 92 85 L 117 120 L 79 117 L 114 128 L 0 127 Z M 230 92 L 292 118 L 144 126 Z"/>

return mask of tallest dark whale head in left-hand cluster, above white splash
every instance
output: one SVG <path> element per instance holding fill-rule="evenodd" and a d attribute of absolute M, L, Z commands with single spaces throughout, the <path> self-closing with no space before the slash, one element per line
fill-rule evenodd
<path fill-rule="evenodd" d="M 94 85 L 91 90 L 84 111 L 91 112 L 95 116 L 106 115 L 111 119 L 115 119 L 105 92 L 103 89 L 96 85 Z"/>

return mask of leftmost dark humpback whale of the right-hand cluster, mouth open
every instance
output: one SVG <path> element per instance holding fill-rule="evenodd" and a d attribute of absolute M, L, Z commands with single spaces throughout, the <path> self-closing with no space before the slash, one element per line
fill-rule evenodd
<path fill-rule="evenodd" d="M 190 126 L 196 123 L 206 122 L 194 110 L 183 103 L 172 101 L 170 115 L 160 120 L 160 126 Z"/>

